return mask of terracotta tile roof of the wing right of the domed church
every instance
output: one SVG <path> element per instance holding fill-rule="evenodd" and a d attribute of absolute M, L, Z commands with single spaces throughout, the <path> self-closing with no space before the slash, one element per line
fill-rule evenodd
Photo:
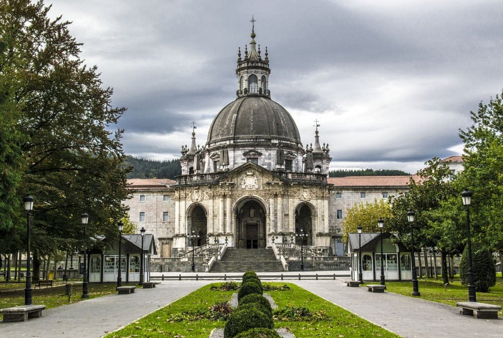
<path fill-rule="evenodd" d="M 333 184 L 335 187 L 405 187 L 411 178 L 414 181 L 420 180 L 417 175 L 328 177 L 326 180 L 328 184 Z"/>

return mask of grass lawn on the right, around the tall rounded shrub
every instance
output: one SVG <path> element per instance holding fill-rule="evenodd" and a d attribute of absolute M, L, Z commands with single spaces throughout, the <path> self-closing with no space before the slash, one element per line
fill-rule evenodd
<path fill-rule="evenodd" d="M 420 297 L 434 302 L 456 306 L 457 302 L 468 301 L 468 287 L 462 285 L 459 278 L 455 278 L 450 285 L 444 287 L 442 279 L 418 279 L 417 285 Z M 386 282 L 386 291 L 411 296 L 412 282 Z M 490 292 L 477 292 L 477 301 L 499 305 L 503 308 L 503 282 L 498 279 L 496 285 L 490 288 Z M 499 311 L 503 316 L 503 310 Z"/>

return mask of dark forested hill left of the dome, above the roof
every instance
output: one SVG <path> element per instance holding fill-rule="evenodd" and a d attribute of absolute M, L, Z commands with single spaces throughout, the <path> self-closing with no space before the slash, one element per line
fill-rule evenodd
<path fill-rule="evenodd" d="M 155 161 L 130 156 L 127 165 L 133 167 L 127 178 L 175 179 L 175 176 L 182 174 L 179 160 Z"/>

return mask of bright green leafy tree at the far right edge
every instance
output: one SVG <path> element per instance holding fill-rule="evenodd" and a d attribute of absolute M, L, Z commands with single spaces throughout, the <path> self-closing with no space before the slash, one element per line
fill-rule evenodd
<path fill-rule="evenodd" d="M 460 131 L 464 170 L 461 188 L 473 192 L 470 205 L 475 241 L 503 254 L 503 91 L 470 111 L 472 125 Z M 461 191 L 461 190 L 460 190 Z M 502 262 L 503 263 L 503 262 Z"/>

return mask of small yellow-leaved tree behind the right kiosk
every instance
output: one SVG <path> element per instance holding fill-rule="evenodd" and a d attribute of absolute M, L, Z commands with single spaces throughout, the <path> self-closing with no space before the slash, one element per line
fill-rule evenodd
<path fill-rule="evenodd" d="M 352 208 L 348 209 L 342 223 L 343 242 L 347 243 L 348 234 L 356 233 L 358 226 L 363 228 L 364 233 L 378 233 L 380 231 L 377 226 L 379 218 L 384 219 L 383 230 L 391 232 L 392 227 L 389 226 L 389 220 L 392 216 L 389 203 L 383 199 L 376 199 L 373 203 L 355 203 Z"/>

